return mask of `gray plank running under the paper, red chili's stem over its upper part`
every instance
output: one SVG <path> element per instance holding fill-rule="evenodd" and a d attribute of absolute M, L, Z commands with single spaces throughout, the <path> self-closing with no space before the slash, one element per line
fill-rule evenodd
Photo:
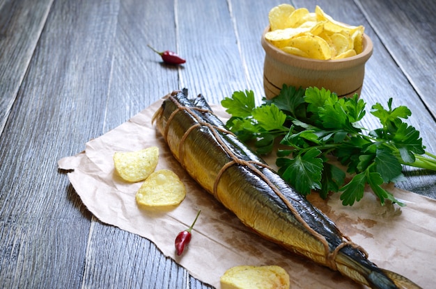
<path fill-rule="evenodd" d="M 173 1 L 120 1 L 103 133 L 179 88 L 179 68 L 147 47 L 176 51 L 175 19 Z M 90 288 L 187 288 L 189 282 L 187 271 L 152 242 L 95 218 L 85 264 L 83 284 Z"/>

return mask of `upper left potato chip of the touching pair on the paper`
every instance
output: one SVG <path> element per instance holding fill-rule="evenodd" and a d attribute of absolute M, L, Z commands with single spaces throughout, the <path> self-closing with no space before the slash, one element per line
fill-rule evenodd
<path fill-rule="evenodd" d="M 118 151 L 114 154 L 115 170 L 125 181 L 143 181 L 156 169 L 158 158 L 157 147 L 140 151 Z"/>

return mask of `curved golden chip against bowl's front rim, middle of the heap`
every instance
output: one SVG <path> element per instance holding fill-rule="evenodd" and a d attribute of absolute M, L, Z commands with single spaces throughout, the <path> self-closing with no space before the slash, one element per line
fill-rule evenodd
<path fill-rule="evenodd" d="M 290 46 L 304 51 L 313 59 L 326 60 L 332 56 L 327 41 L 316 35 L 297 36 L 290 41 Z"/>

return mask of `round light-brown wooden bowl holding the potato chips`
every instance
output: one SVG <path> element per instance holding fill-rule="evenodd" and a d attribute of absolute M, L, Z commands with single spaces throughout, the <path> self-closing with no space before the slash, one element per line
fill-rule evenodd
<path fill-rule="evenodd" d="M 338 97 L 360 95 L 364 83 L 365 63 L 373 53 L 373 42 L 364 34 L 364 49 L 356 56 L 337 60 L 317 60 L 294 56 L 281 51 L 265 40 L 265 28 L 261 43 L 265 49 L 263 87 L 265 97 L 271 99 L 279 94 L 283 84 L 297 88 L 317 87 L 336 92 Z"/>

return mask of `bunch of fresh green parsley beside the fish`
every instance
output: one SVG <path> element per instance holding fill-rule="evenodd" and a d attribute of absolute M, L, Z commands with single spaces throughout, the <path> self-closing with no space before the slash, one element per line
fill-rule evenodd
<path fill-rule="evenodd" d="M 381 204 L 389 199 L 403 206 L 382 184 L 401 181 L 402 165 L 436 170 L 436 156 L 425 151 L 419 131 L 403 122 L 412 113 L 405 106 L 392 108 L 392 99 L 387 108 L 372 106 L 381 124 L 373 131 L 359 126 L 366 114 L 363 99 L 338 98 L 324 88 L 283 85 L 277 97 L 260 106 L 254 92 L 238 91 L 221 105 L 231 114 L 228 129 L 243 142 L 256 140 L 258 153 L 269 154 L 280 140 L 278 173 L 302 195 L 318 190 L 326 198 L 328 192 L 341 192 L 343 205 L 352 206 L 368 184 Z M 341 167 L 329 161 L 332 157 Z M 346 173 L 352 176 L 348 183 Z"/>

